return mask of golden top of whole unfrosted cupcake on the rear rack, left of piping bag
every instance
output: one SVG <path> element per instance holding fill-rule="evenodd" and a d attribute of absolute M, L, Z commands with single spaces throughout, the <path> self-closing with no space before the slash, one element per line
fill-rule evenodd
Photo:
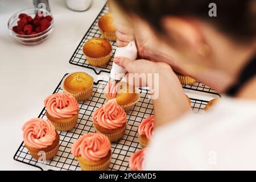
<path fill-rule="evenodd" d="M 108 56 L 112 52 L 112 45 L 103 38 L 92 38 L 82 48 L 85 56 L 99 58 Z"/>

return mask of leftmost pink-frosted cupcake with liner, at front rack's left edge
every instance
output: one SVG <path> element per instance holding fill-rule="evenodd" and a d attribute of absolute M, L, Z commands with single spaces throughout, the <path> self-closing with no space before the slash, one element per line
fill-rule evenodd
<path fill-rule="evenodd" d="M 24 144 L 34 159 L 49 160 L 57 154 L 60 137 L 51 122 L 41 118 L 30 119 L 22 130 Z"/>

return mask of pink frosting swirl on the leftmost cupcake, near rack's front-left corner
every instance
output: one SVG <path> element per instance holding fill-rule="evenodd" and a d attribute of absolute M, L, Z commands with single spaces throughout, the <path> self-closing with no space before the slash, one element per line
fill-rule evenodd
<path fill-rule="evenodd" d="M 24 123 L 22 130 L 24 143 L 34 148 L 51 146 L 56 138 L 56 130 L 52 123 L 41 118 L 30 119 Z"/>

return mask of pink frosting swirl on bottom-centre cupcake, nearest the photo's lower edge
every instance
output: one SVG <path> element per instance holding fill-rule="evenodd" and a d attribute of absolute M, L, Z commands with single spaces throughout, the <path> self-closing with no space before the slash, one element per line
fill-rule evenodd
<path fill-rule="evenodd" d="M 109 138 L 100 133 L 82 135 L 71 148 L 73 156 L 82 156 L 82 158 L 94 162 L 107 156 L 109 150 Z"/>

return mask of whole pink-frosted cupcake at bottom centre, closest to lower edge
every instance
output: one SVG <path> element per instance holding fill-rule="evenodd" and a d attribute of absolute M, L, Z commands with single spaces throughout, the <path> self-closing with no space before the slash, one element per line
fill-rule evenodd
<path fill-rule="evenodd" d="M 89 133 L 82 135 L 71 148 L 83 171 L 106 171 L 109 168 L 112 151 L 108 137 Z"/>

